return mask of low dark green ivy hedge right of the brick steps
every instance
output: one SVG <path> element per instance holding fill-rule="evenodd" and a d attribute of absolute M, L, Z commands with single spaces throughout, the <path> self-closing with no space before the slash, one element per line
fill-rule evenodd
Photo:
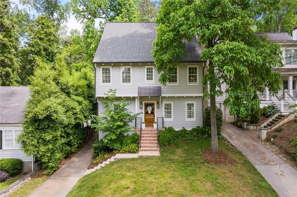
<path fill-rule="evenodd" d="M 160 148 L 183 140 L 208 140 L 211 139 L 210 127 L 194 127 L 187 130 L 175 130 L 173 127 L 166 127 L 159 132 L 158 140 Z M 218 140 L 224 140 L 222 134 L 218 135 Z"/>

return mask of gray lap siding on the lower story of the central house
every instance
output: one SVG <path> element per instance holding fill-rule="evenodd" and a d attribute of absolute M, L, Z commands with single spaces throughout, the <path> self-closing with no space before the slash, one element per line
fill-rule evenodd
<path fill-rule="evenodd" d="M 118 101 L 120 101 L 121 98 L 118 98 Z M 144 102 L 153 102 L 153 101 L 159 101 L 159 97 L 140 97 L 139 101 Z M 130 97 L 127 97 L 127 102 L 131 102 L 128 106 L 128 109 L 135 113 L 144 112 L 144 107 L 142 109 L 139 108 L 138 100 L 136 101 L 136 111 L 135 111 L 135 97 L 132 99 Z M 176 130 L 181 129 L 182 127 L 185 127 L 186 129 L 191 129 L 196 126 L 202 126 L 203 125 L 203 108 L 202 108 L 202 97 L 198 96 L 193 98 L 193 96 L 186 96 L 184 97 L 162 97 L 161 99 L 161 106 L 160 108 L 157 108 L 156 110 L 156 116 L 155 117 L 163 117 L 163 102 L 173 102 L 173 120 L 164 120 L 164 127 L 174 127 Z M 189 121 L 186 120 L 186 102 L 192 102 L 195 101 L 195 121 Z M 144 104 L 143 104 L 144 106 Z M 101 102 L 99 101 L 99 116 L 103 115 L 102 112 L 105 111 L 103 106 L 101 105 Z M 142 117 L 142 121 L 144 118 L 144 114 L 140 114 L 138 117 Z M 135 122 L 133 121 L 130 126 L 134 127 Z"/>

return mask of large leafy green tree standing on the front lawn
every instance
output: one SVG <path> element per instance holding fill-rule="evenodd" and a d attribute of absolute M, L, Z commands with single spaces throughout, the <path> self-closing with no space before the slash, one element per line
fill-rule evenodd
<path fill-rule="evenodd" d="M 164 1 L 156 19 L 157 38 L 152 51 L 157 71 L 162 72 L 159 81 L 166 84 L 173 69 L 187 56 L 185 41 L 198 38 L 204 46 L 201 59 L 208 62 L 203 86 L 209 83 L 204 96 L 210 99 L 211 151 L 218 153 L 216 127 L 216 96 L 225 83 L 230 114 L 245 116 L 259 107 L 256 91 L 279 89 L 280 74 L 273 67 L 283 66 L 279 46 L 253 32 L 253 18 L 260 7 L 253 1 L 184 0 Z M 261 70 L 261 72 L 259 72 Z"/>

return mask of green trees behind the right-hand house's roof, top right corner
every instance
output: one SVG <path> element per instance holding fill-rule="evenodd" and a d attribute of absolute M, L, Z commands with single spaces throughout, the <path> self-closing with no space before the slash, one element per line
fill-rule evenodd
<path fill-rule="evenodd" d="M 268 6 L 265 6 L 268 5 Z M 297 0 L 258 1 L 257 32 L 287 32 L 297 26 Z"/>

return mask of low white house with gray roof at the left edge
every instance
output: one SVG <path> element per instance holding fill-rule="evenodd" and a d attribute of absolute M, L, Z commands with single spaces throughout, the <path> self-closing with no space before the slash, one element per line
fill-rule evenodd
<path fill-rule="evenodd" d="M 40 162 L 34 156 L 26 157 L 15 141 L 22 131 L 24 105 L 30 98 L 27 86 L 0 86 L 0 159 L 17 158 L 23 161 L 23 172 L 37 170 Z"/>

